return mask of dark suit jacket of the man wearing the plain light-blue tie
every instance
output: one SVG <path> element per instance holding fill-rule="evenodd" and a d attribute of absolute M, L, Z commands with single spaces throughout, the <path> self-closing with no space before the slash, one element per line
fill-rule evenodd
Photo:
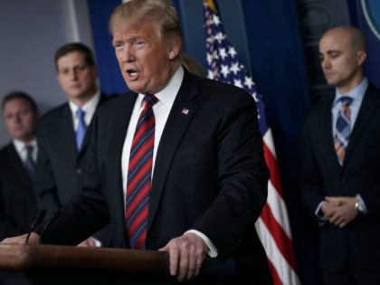
<path fill-rule="evenodd" d="M 101 94 L 97 110 L 100 105 L 114 97 Z M 87 128 L 81 150 L 78 151 L 68 102 L 48 111 L 40 120 L 34 192 L 39 207 L 47 211 L 47 216 L 69 203 L 74 195 L 81 192 L 81 179 L 87 164 L 86 157 L 93 128 L 92 121 L 93 119 Z M 109 246 L 109 237 L 106 233 L 96 237 L 105 246 Z"/>

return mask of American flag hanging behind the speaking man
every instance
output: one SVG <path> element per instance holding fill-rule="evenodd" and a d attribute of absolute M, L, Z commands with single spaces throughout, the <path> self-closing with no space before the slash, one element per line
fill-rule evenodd
<path fill-rule="evenodd" d="M 207 77 L 236 85 L 252 94 L 256 100 L 264 156 L 271 170 L 268 199 L 256 222 L 256 230 L 267 253 L 275 285 L 300 284 L 290 233 L 288 210 L 280 182 L 276 151 L 271 128 L 265 119 L 264 103 L 256 85 L 245 70 L 239 55 L 224 33 L 214 0 L 204 0 L 204 22 L 207 47 Z"/>

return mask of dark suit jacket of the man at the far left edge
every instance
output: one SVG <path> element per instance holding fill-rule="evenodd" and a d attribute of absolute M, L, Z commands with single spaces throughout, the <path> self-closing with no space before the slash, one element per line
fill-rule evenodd
<path fill-rule="evenodd" d="M 0 240 L 28 232 L 35 214 L 33 183 L 9 143 L 0 150 Z"/>

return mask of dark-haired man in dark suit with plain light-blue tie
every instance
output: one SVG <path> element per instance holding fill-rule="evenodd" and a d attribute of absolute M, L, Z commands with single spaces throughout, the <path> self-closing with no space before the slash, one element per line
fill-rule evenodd
<path fill-rule="evenodd" d="M 111 97 L 97 86 L 98 68 L 90 48 L 82 43 L 67 43 L 55 52 L 55 68 L 62 90 L 68 97 L 63 103 L 43 115 L 38 128 L 39 154 L 34 191 L 41 208 L 49 214 L 81 191 L 81 176 L 89 151 L 91 120 L 98 107 Z M 76 135 L 84 112 L 87 127 L 81 146 Z M 109 246 L 107 231 L 90 237 L 82 246 Z"/>

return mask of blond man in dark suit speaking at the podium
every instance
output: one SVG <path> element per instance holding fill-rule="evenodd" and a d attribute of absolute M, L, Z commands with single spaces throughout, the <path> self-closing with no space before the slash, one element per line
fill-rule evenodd
<path fill-rule="evenodd" d="M 114 246 L 168 252 L 177 280 L 193 280 L 209 256 L 234 261 L 232 284 L 271 284 L 255 230 L 269 171 L 252 96 L 185 71 L 182 30 L 169 1 L 129 1 L 115 9 L 109 24 L 132 91 L 100 108 L 83 193 L 62 208 L 43 242 L 75 244 L 110 222 Z M 140 112 L 147 122 L 140 124 Z M 155 125 L 154 138 L 139 131 L 146 123 Z M 154 147 L 140 160 L 134 150 L 142 133 L 150 138 L 143 148 Z M 142 172 L 134 162 L 145 166 L 138 167 Z M 135 184 L 136 173 L 141 179 Z M 148 190 L 141 194 L 148 202 L 137 203 L 144 209 L 148 204 L 141 215 L 147 220 L 133 231 L 128 202 L 138 190 Z M 142 234 L 135 244 L 136 232 Z"/>

